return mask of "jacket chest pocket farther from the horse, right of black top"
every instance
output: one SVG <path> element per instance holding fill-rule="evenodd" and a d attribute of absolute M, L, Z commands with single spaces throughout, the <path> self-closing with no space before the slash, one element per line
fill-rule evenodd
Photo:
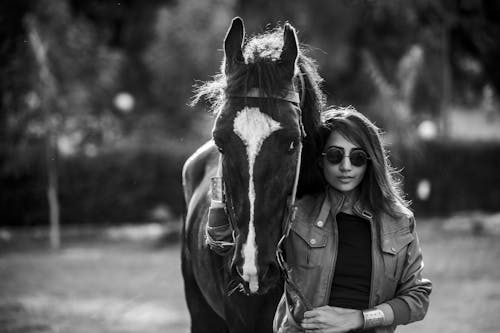
<path fill-rule="evenodd" d="M 385 235 L 382 239 L 382 257 L 385 275 L 391 280 L 399 280 L 406 260 L 406 248 L 414 237 L 409 229 Z"/>

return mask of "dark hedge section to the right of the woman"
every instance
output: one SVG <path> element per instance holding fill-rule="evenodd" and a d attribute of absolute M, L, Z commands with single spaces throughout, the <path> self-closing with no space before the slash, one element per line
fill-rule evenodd
<path fill-rule="evenodd" d="M 462 211 L 500 210 L 500 142 L 432 141 L 401 152 L 404 189 L 421 216 Z M 431 184 L 430 196 L 416 195 L 419 181 Z"/>

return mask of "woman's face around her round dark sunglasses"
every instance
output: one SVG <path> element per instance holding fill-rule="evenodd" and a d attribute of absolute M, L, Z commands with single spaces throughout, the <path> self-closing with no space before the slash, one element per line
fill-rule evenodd
<path fill-rule="evenodd" d="M 326 156 L 323 156 L 323 174 L 328 184 L 340 192 L 351 192 L 363 180 L 366 171 L 366 163 L 361 166 L 355 166 L 351 162 L 350 156 L 356 150 L 362 150 L 339 132 L 332 132 L 326 141 L 323 152 L 330 147 L 337 147 L 343 150 L 344 157 L 338 164 L 333 164 Z"/>

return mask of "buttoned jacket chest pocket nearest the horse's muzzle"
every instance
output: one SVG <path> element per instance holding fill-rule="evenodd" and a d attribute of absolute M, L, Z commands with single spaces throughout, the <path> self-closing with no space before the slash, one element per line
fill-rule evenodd
<path fill-rule="evenodd" d="M 287 243 L 290 244 L 287 254 L 292 265 L 314 267 L 324 263 L 325 247 L 328 232 L 313 224 L 296 222 Z"/>

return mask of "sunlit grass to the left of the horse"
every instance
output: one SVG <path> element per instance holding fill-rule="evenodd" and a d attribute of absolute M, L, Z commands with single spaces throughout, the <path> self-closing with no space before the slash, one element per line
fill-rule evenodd
<path fill-rule="evenodd" d="M 8 253 L 0 280 L 0 332 L 187 331 L 177 247 Z"/>

